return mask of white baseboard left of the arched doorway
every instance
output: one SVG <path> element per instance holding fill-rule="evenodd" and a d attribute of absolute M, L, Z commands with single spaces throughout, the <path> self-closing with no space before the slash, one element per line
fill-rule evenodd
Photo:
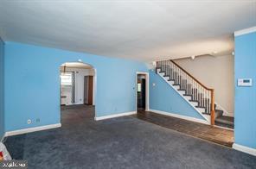
<path fill-rule="evenodd" d="M 41 130 L 50 129 L 50 128 L 60 128 L 60 127 L 61 127 L 61 123 L 56 123 L 56 124 L 50 124 L 50 125 L 46 125 L 46 126 L 39 126 L 39 127 L 35 127 L 35 128 L 17 129 L 14 131 L 5 132 L 5 137 L 11 136 L 11 135 L 22 135 L 22 134 L 26 134 L 26 133 L 35 132 L 35 131 L 41 131 Z"/>

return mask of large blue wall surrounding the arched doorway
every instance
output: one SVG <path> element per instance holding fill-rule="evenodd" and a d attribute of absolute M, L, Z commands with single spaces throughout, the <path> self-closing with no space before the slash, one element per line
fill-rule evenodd
<path fill-rule="evenodd" d="M 136 72 L 148 72 L 143 63 L 6 42 L 5 130 L 59 123 L 59 68 L 78 59 L 97 70 L 96 116 L 136 110 Z"/>

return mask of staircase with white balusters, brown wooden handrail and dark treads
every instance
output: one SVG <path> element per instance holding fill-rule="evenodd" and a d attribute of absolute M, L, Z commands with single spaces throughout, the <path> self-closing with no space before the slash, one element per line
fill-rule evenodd
<path fill-rule="evenodd" d="M 229 118 L 227 116 L 223 118 L 223 110 L 216 109 L 214 89 L 202 84 L 173 60 L 157 61 L 156 72 L 179 92 L 209 124 L 225 123 L 224 121 Z"/>

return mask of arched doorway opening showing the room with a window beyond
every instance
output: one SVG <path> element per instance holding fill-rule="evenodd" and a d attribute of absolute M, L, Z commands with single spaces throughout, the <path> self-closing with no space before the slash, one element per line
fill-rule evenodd
<path fill-rule="evenodd" d="M 96 70 L 81 62 L 66 62 L 60 67 L 61 123 L 94 118 Z M 86 115 L 85 115 L 86 113 Z"/>

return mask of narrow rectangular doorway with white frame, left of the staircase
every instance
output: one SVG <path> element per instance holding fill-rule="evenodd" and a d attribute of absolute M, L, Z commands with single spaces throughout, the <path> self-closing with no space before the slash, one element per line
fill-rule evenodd
<path fill-rule="evenodd" d="M 137 72 L 136 77 L 136 106 L 137 111 L 149 110 L 149 74 Z"/>

